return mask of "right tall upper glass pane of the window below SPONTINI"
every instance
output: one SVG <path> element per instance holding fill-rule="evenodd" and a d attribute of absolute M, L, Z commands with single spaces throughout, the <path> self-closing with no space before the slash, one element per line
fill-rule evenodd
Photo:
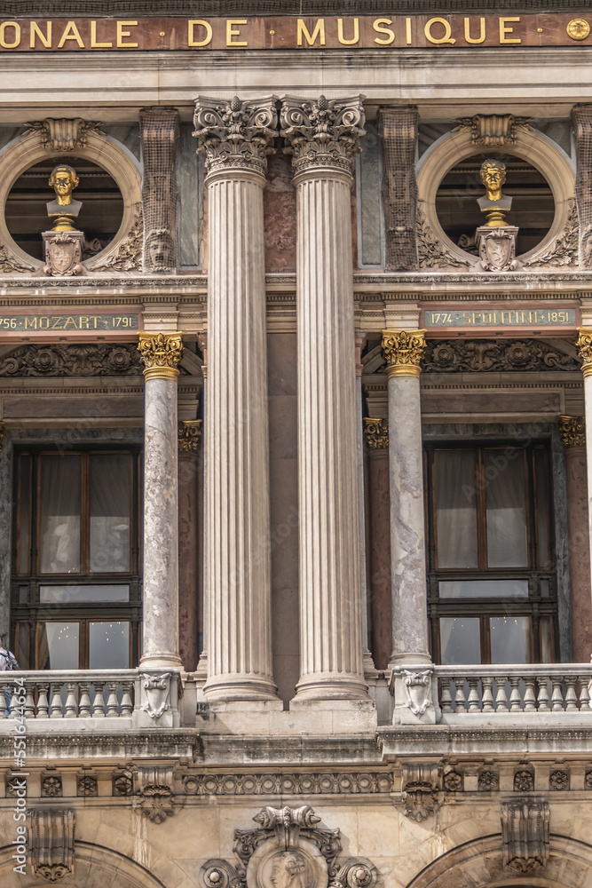
<path fill-rule="evenodd" d="M 526 567 L 526 485 L 522 452 L 485 450 L 487 559 L 489 567 Z"/>

